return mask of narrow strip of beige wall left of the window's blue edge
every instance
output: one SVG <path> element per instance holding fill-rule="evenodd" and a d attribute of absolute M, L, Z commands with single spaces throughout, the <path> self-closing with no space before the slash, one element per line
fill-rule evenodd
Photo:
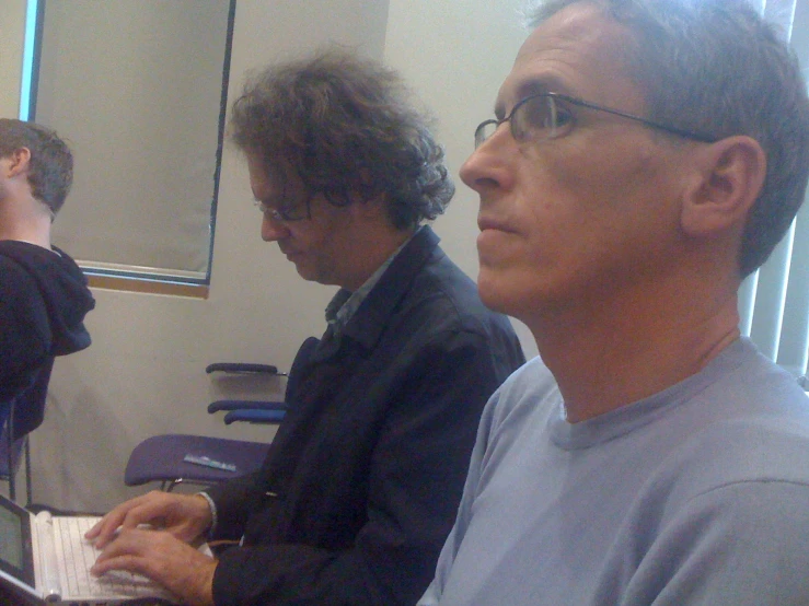
<path fill-rule="evenodd" d="M 20 77 L 25 35 L 25 0 L 0 0 L 0 117 L 20 112 Z"/>

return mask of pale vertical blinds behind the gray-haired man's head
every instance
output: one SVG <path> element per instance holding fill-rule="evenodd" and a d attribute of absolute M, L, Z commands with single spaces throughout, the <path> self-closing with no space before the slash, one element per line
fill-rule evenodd
<path fill-rule="evenodd" d="M 777 23 L 808 74 L 809 4 L 797 0 L 760 0 L 760 10 Z M 806 382 L 809 360 L 809 202 L 805 202 L 766 264 L 739 291 L 741 331 L 762 353 Z"/>

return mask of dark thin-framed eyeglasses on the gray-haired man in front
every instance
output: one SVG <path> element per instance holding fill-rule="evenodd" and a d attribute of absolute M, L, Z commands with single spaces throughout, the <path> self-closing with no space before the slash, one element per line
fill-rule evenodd
<path fill-rule="evenodd" d="M 715 143 L 719 140 L 717 137 L 710 135 L 692 132 L 682 128 L 656 123 L 642 118 L 640 116 L 633 116 L 632 114 L 596 105 L 594 103 L 569 95 L 560 93 L 539 93 L 527 96 L 518 102 L 511 108 L 511 113 L 505 118 L 499 120 L 493 118 L 482 121 L 475 129 L 475 149 L 481 147 L 486 139 L 492 137 L 495 133 L 495 130 L 497 130 L 502 123 L 509 123 L 511 136 L 520 142 L 562 137 L 563 135 L 566 135 L 575 124 L 574 114 L 570 110 L 569 105 L 578 105 L 580 107 L 587 107 L 598 112 L 605 112 L 614 116 L 621 116 L 622 118 L 640 123 L 649 128 L 670 132 L 685 139 L 702 141 L 703 143 Z"/>

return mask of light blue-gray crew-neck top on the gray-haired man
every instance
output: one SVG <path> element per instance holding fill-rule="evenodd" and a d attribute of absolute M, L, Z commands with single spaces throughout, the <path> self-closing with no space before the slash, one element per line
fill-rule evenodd
<path fill-rule="evenodd" d="M 532 360 L 484 411 L 435 604 L 809 604 L 809 398 L 739 339 L 571 424 Z"/>

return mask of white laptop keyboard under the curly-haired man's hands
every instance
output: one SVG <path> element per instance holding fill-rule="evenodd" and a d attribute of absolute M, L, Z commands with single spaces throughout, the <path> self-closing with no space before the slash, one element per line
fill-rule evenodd
<path fill-rule="evenodd" d="M 90 574 L 100 550 L 84 538 L 84 533 L 99 521 L 97 517 L 55 516 L 53 520 L 57 558 L 63 562 L 59 576 L 66 595 L 141 597 L 164 593 L 146 576 L 130 572 L 113 571 L 103 576 Z"/>

